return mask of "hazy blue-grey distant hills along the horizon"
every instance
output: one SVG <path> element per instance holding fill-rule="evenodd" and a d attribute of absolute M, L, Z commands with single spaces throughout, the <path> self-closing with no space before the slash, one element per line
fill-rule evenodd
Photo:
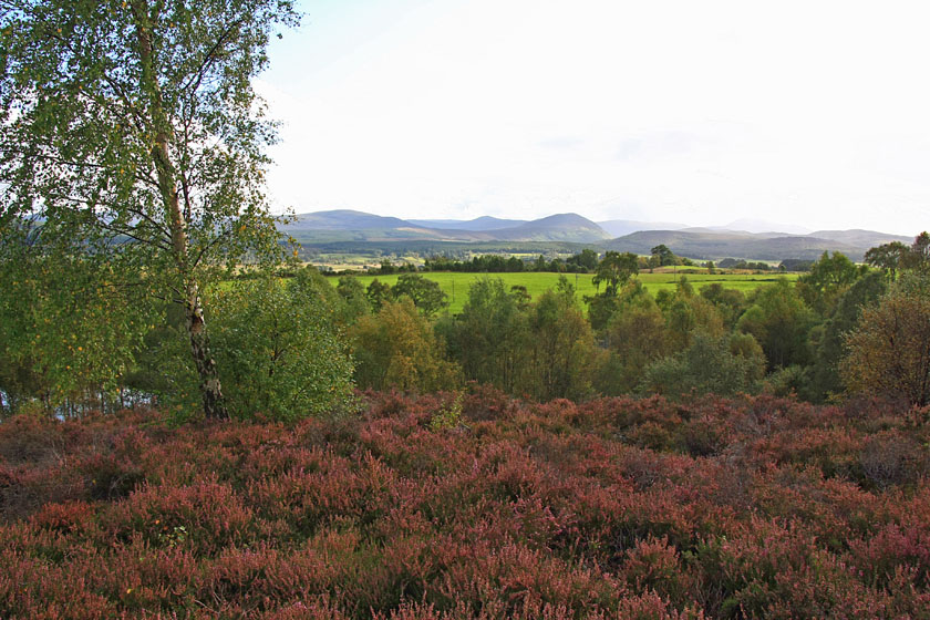
<path fill-rule="evenodd" d="M 874 230 L 818 230 L 792 225 L 741 219 L 721 227 L 614 219 L 595 223 L 578 214 L 558 214 L 535 220 L 479 217 L 400 219 L 355 210 L 301 214 L 281 227 L 304 245 L 338 242 L 436 241 L 456 244 L 558 241 L 586 244 L 602 250 L 645 255 L 658 245 L 698 259 L 753 260 L 814 259 L 824 251 L 841 251 L 861 260 L 871 247 L 909 237 Z"/>

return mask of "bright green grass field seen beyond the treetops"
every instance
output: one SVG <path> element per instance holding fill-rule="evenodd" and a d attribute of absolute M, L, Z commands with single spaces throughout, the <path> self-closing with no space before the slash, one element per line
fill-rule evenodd
<path fill-rule="evenodd" d="M 699 289 L 703 285 L 711 282 L 722 282 L 727 288 L 740 289 L 748 292 L 757 287 L 769 285 L 778 278 L 786 278 L 788 280 L 796 280 L 797 273 L 778 275 L 778 273 L 763 273 L 763 275 L 743 275 L 743 273 L 726 273 L 726 275 L 710 275 L 710 273 L 688 273 L 685 277 L 688 281 Z M 453 314 L 462 311 L 465 300 L 468 297 L 468 287 L 475 280 L 480 278 L 500 278 L 507 287 L 524 286 L 527 292 L 535 299 L 537 296 L 545 292 L 547 289 L 555 288 L 559 280 L 559 273 L 459 273 L 459 272 L 426 272 L 423 277 L 435 280 L 440 287 L 448 296 L 450 312 Z M 595 285 L 591 283 L 591 273 L 566 273 L 566 278 L 572 285 L 576 285 L 579 297 L 585 294 L 593 294 L 597 292 Z M 359 280 L 365 287 L 375 278 L 388 285 L 394 286 L 399 276 L 358 276 Z M 681 278 L 681 273 L 640 273 L 639 280 L 652 294 L 655 294 L 662 289 L 674 290 L 675 281 Z M 329 278 L 330 282 L 335 286 L 338 278 Z"/>

